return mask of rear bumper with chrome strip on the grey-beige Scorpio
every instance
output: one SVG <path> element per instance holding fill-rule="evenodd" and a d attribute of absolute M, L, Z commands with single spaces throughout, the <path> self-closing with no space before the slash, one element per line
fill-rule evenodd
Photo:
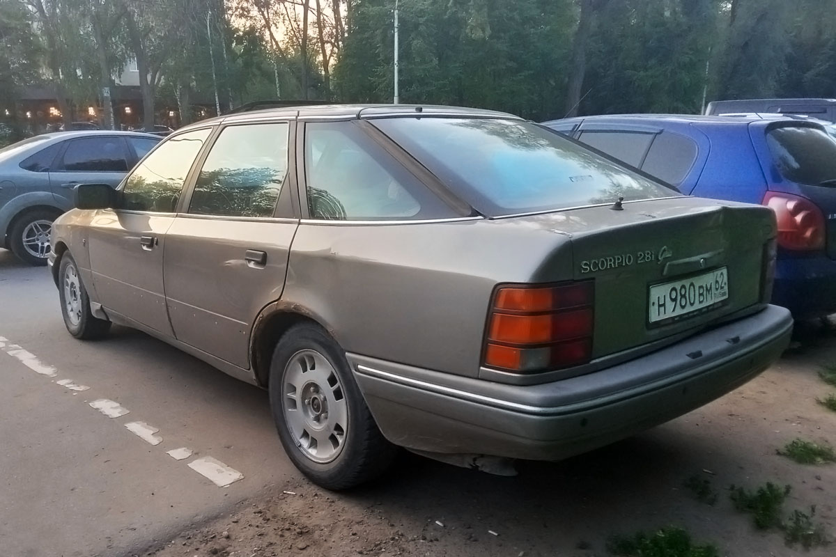
<path fill-rule="evenodd" d="M 354 354 L 349 362 L 392 443 L 430 453 L 557 460 L 665 423 L 732 391 L 781 355 L 792 329 L 787 310 L 767 306 L 630 362 L 528 386 Z"/>

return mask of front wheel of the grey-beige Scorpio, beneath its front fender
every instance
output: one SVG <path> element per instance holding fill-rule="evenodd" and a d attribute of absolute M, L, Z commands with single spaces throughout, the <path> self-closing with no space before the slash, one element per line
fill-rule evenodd
<path fill-rule="evenodd" d="M 79 267 L 69 251 L 61 257 L 59 266 L 59 299 L 61 315 L 69 334 L 81 340 L 104 337 L 110 331 L 110 322 L 93 316 L 87 289 L 81 282 Z"/>

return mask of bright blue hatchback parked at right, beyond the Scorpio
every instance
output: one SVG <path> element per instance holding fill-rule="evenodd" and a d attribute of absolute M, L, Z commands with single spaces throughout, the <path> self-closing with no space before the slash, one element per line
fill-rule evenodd
<path fill-rule="evenodd" d="M 836 312 L 836 140 L 822 123 L 630 114 L 544 125 L 683 194 L 771 207 L 778 223 L 772 303 L 796 319 Z"/>

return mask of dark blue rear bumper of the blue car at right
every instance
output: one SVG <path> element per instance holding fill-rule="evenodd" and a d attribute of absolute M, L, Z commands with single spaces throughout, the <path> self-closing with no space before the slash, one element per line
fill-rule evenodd
<path fill-rule="evenodd" d="M 788 308 L 796 319 L 836 313 L 836 260 L 779 256 L 772 303 Z"/>

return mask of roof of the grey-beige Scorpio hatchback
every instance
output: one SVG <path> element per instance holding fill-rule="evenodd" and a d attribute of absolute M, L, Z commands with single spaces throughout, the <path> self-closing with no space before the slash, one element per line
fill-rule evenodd
<path fill-rule="evenodd" d="M 461 116 L 466 118 L 510 118 L 521 119 L 519 116 L 497 112 L 495 110 L 471 109 L 458 106 L 441 106 L 433 104 L 312 104 L 307 106 L 293 106 L 274 109 L 252 110 L 240 114 L 225 114 L 216 118 L 201 120 L 178 129 L 178 133 L 193 128 L 200 128 L 206 124 L 221 124 L 224 122 L 245 122 L 258 119 L 292 118 L 292 119 L 361 119 L 384 116 Z"/>

